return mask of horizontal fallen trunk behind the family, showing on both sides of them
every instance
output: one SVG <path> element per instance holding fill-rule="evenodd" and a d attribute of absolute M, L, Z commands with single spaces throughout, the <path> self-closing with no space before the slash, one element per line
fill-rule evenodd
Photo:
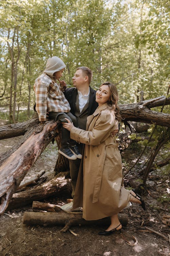
<path fill-rule="evenodd" d="M 167 119 L 169 120 L 170 115 L 150 110 L 155 106 L 162 106 L 164 102 L 165 105 L 169 105 L 170 98 L 160 96 L 134 104 L 119 105 L 122 119 L 125 118 L 126 120 L 135 122 L 157 124 L 170 127 L 170 124 L 167 122 Z M 38 123 L 38 115 L 35 114 L 30 120 L 26 122 L 2 126 L 0 127 L 0 139 L 23 135 L 26 131 L 29 131 L 31 127 Z"/>

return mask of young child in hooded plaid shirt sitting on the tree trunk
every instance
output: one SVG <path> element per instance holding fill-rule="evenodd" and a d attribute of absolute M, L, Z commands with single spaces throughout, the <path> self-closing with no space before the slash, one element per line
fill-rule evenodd
<path fill-rule="evenodd" d="M 46 121 L 48 112 L 50 119 L 67 123 L 66 117 L 76 126 L 76 117 L 70 113 L 70 105 L 63 94 L 67 85 L 64 80 L 60 80 L 65 67 L 66 65 L 60 58 L 53 56 L 47 60 L 43 74 L 35 80 L 35 110 L 40 122 Z M 59 81 L 59 84 L 56 80 Z M 58 152 L 68 159 L 81 159 L 82 155 L 76 142 L 70 139 L 70 132 L 63 127 L 61 129 L 61 148 Z"/>

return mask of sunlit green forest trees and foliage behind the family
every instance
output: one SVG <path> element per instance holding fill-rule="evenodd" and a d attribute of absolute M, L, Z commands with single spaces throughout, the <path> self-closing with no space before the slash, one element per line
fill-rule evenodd
<path fill-rule="evenodd" d="M 166 95 L 168 10 L 166 0 L 1 0 L 0 106 L 10 122 L 23 109 L 30 117 L 34 81 L 52 56 L 66 63 L 69 86 L 88 66 L 91 86 L 114 82 L 120 104 Z"/>

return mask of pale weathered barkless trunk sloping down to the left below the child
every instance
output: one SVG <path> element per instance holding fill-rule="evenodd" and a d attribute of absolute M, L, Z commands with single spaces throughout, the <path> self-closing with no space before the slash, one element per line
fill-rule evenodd
<path fill-rule="evenodd" d="M 48 123 L 42 132 L 32 134 L 0 167 L 0 215 L 7 208 L 23 177 L 54 136 L 56 126 L 56 122 Z"/>

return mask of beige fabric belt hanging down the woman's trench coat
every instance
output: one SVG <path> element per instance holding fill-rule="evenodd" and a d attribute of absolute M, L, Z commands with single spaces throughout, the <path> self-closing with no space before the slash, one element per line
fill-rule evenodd
<path fill-rule="evenodd" d="M 118 147 L 118 144 L 119 143 L 112 142 L 112 143 L 105 144 L 102 147 L 101 157 L 100 157 L 99 166 L 98 166 L 98 172 L 97 172 L 97 175 L 96 175 L 97 178 L 96 178 L 96 182 L 95 182 L 95 188 L 94 188 L 92 203 L 96 203 L 99 200 L 99 192 L 100 192 L 100 187 L 101 187 L 101 182 L 102 182 L 103 166 L 104 166 L 104 160 L 105 160 L 105 157 L 106 157 L 106 146 L 112 145 L 112 147 L 116 148 L 116 147 Z"/>

